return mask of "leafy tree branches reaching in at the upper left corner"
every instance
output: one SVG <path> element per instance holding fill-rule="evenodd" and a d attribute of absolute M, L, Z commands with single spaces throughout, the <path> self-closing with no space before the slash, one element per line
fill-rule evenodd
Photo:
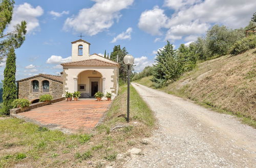
<path fill-rule="evenodd" d="M 12 32 L 4 34 L 7 25 L 12 20 L 13 0 L 0 0 L 0 60 L 13 48 L 18 48 L 25 40 L 26 21 L 14 26 Z"/>

